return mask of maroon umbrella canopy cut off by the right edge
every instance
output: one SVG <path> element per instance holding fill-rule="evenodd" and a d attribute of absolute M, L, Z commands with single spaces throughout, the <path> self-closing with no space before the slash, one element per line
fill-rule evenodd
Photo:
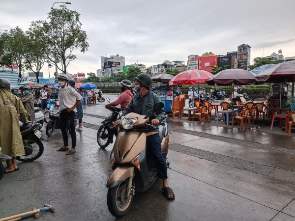
<path fill-rule="evenodd" d="M 275 64 L 256 75 L 258 82 L 284 83 L 293 82 L 295 77 L 295 60 Z"/>

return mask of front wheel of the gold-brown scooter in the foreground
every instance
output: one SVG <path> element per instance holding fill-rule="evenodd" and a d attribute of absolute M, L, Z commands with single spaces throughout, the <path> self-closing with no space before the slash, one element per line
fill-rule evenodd
<path fill-rule="evenodd" d="M 128 179 L 108 190 L 107 204 L 110 213 L 114 217 L 124 216 L 132 205 L 134 195 L 131 193 L 130 197 L 126 197 Z"/>

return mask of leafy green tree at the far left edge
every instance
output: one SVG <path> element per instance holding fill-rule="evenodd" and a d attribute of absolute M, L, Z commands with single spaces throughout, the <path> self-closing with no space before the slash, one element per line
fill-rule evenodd
<path fill-rule="evenodd" d="M 22 78 L 22 71 L 25 69 L 25 53 L 27 36 L 24 31 L 19 28 L 12 28 L 9 31 L 5 30 L 1 34 L 1 64 L 11 67 L 16 63 L 19 69 L 19 77 Z"/>

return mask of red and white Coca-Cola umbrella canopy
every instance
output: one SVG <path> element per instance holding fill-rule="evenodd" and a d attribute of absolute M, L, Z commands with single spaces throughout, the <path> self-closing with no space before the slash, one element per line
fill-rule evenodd
<path fill-rule="evenodd" d="M 169 82 L 169 85 L 188 85 L 188 84 L 199 84 L 207 83 L 207 79 L 213 77 L 214 75 L 210 72 L 193 69 L 180 72 Z"/>

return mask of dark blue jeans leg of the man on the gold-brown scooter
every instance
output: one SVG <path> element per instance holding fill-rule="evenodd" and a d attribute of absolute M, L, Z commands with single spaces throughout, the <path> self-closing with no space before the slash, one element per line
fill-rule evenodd
<path fill-rule="evenodd" d="M 162 180 L 167 179 L 167 167 L 165 158 L 162 155 L 161 138 L 159 133 L 147 137 L 148 150 L 152 152 L 156 163 L 158 177 Z"/>

